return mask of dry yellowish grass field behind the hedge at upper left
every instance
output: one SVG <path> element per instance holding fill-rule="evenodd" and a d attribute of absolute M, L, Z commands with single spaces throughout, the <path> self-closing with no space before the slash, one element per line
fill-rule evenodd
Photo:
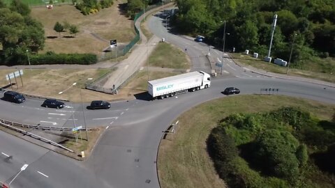
<path fill-rule="evenodd" d="M 43 52 L 53 51 L 56 53 L 94 53 L 100 55 L 105 47 L 110 45 L 111 39 L 118 42 L 128 43 L 135 37 L 133 20 L 122 15 L 119 10 L 119 3 L 114 1 L 110 8 L 102 9 L 93 15 L 82 15 L 75 6 L 64 5 L 54 6 L 53 9 L 36 7 L 31 9 L 31 16 L 40 21 L 45 29 L 45 48 Z M 64 38 L 69 33 L 54 31 L 54 24 L 75 24 L 80 32 L 75 38 Z M 92 35 L 98 36 L 94 36 Z M 47 38 L 54 36 L 57 38 Z"/>

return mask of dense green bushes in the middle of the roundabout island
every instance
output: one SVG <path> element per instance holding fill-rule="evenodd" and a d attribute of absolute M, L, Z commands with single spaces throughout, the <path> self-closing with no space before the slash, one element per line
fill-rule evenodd
<path fill-rule="evenodd" d="M 237 113 L 218 124 L 207 148 L 230 187 L 318 187 L 306 176 L 318 171 L 311 166 L 335 173 L 334 123 L 312 118 L 306 111 L 284 107 L 269 113 Z"/>

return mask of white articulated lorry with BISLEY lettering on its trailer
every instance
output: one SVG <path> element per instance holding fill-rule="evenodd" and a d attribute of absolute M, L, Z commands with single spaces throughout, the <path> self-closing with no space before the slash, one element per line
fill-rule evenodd
<path fill-rule="evenodd" d="M 163 99 L 209 86 L 211 86 L 211 76 L 206 72 L 195 71 L 148 81 L 148 93 L 154 99 Z"/>

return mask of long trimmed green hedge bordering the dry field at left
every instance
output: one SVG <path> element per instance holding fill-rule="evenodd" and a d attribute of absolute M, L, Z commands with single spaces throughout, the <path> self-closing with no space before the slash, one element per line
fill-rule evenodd
<path fill-rule="evenodd" d="M 96 54 L 36 54 L 30 56 L 31 65 L 80 64 L 91 65 L 98 62 Z"/>

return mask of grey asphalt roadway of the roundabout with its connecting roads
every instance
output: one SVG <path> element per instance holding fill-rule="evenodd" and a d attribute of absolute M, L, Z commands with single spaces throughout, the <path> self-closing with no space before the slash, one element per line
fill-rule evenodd
<path fill-rule="evenodd" d="M 168 33 L 162 25 L 163 19 L 165 17 L 151 17 L 151 31 L 182 49 L 187 46 L 187 53 L 193 61 L 191 69 L 209 72 L 209 61 L 204 58 L 209 52 L 208 46 Z M 211 49 L 213 58 L 221 58 L 221 53 Z M 11 187 L 157 188 L 156 155 L 163 131 L 180 113 L 191 107 L 214 98 L 227 97 L 221 94 L 225 87 L 236 86 L 241 95 L 259 94 L 261 88 L 275 88 L 278 89 L 276 95 L 335 104 L 335 88 L 244 72 L 243 68 L 223 59 L 224 75 L 214 78 L 208 89 L 164 100 L 151 101 L 144 96 L 137 100 L 112 102 L 108 110 L 84 110 L 89 127 L 103 125 L 107 129 L 85 162 L 77 162 L 0 132 L 0 181 L 9 182 L 23 164 L 29 164 Z M 73 126 L 73 112 L 75 124 L 83 124 L 81 104 L 67 103 L 66 108 L 58 110 L 40 107 L 42 102 L 32 98 L 22 104 L 0 100 L 0 114 L 2 118 L 20 123 L 70 127 Z M 13 159 L 8 160 L 7 155 L 13 156 Z"/>

